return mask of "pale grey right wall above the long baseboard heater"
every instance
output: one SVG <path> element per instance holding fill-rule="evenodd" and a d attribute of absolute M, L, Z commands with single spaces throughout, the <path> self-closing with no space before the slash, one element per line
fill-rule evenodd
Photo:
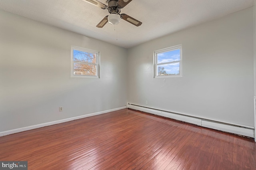
<path fill-rule="evenodd" d="M 183 77 L 154 79 L 153 51 L 178 44 Z M 138 45 L 128 50 L 128 102 L 254 126 L 253 55 L 253 8 Z"/>

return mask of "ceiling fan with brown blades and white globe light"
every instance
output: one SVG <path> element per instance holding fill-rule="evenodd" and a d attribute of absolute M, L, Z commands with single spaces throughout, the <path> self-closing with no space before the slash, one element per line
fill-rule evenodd
<path fill-rule="evenodd" d="M 103 20 L 100 21 L 100 23 L 96 26 L 98 28 L 104 27 L 107 22 L 109 22 L 112 25 L 116 25 L 119 23 L 120 18 L 137 27 L 142 24 L 142 22 L 128 16 L 127 14 L 120 14 L 121 8 L 124 8 L 132 0 L 107 0 L 106 5 L 103 4 L 102 2 L 99 2 L 98 0 L 83 0 L 83 1 L 88 2 L 92 5 L 98 6 L 103 10 L 108 10 L 108 12 L 110 13 L 110 15 L 105 16 Z"/>

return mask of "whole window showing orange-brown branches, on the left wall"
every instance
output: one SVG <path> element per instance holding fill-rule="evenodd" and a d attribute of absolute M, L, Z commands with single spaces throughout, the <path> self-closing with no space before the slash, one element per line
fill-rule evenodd
<path fill-rule="evenodd" d="M 100 52 L 71 46 L 71 77 L 100 78 Z"/>

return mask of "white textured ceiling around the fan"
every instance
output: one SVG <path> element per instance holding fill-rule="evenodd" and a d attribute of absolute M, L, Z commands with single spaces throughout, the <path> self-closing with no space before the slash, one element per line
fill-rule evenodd
<path fill-rule="evenodd" d="M 105 4 L 105 0 L 98 1 Z M 0 9 L 129 48 L 253 4 L 254 0 L 133 0 L 121 13 L 142 25 L 120 20 L 116 30 L 110 24 L 96 28 L 108 11 L 82 0 L 0 0 Z"/>

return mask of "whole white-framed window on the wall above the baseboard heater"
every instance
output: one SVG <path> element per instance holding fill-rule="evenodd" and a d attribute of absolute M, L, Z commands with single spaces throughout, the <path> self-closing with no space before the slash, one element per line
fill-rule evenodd
<path fill-rule="evenodd" d="M 182 77 L 182 45 L 154 51 L 154 78 Z"/>

